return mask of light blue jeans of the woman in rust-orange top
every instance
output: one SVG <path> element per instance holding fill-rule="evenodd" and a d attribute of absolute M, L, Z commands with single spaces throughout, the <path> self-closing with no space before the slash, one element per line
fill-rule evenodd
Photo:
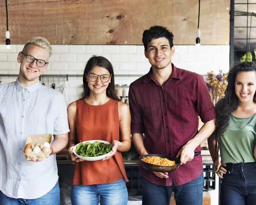
<path fill-rule="evenodd" d="M 72 205 L 127 205 L 128 191 L 125 179 L 96 185 L 72 185 Z"/>

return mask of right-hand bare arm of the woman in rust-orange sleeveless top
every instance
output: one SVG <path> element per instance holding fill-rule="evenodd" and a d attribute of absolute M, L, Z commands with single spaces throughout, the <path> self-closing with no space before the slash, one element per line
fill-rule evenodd
<path fill-rule="evenodd" d="M 126 103 L 118 102 L 120 141 L 113 140 L 112 152 L 103 160 L 109 159 L 116 151 L 128 151 L 131 148 L 131 114 Z"/>

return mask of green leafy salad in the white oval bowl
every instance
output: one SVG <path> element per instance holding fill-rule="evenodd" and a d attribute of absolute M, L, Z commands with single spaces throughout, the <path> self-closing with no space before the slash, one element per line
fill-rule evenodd
<path fill-rule="evenodd" d="M 76 154 L 83 157 L 98 157 L 109 153 L 111 149 L 111 144 L 95 141 L 93 143 L 81 142 L 79 145 L 77 145 L 75 151 Z"/>

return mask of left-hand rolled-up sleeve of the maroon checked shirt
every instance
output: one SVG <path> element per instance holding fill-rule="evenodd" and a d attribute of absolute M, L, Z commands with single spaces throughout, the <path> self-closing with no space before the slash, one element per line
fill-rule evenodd
<path fill-rule="evenodd" d="M 131 134 L 144 133 L 144 122 L 143 122 L 143 112 L 140 105 L 136 101 L 136 93 L 134 89 L 134 83 L 131 83 L 129 88 L 129 107 L 131 111 Z"/>

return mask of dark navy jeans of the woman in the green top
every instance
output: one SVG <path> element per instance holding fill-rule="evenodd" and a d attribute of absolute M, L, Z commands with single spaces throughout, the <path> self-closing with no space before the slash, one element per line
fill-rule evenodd
<path fill-rule="evenodd" d="M 221 205 L 256 204 L 256 162 L 227 163 L 221 179 Z"/>

